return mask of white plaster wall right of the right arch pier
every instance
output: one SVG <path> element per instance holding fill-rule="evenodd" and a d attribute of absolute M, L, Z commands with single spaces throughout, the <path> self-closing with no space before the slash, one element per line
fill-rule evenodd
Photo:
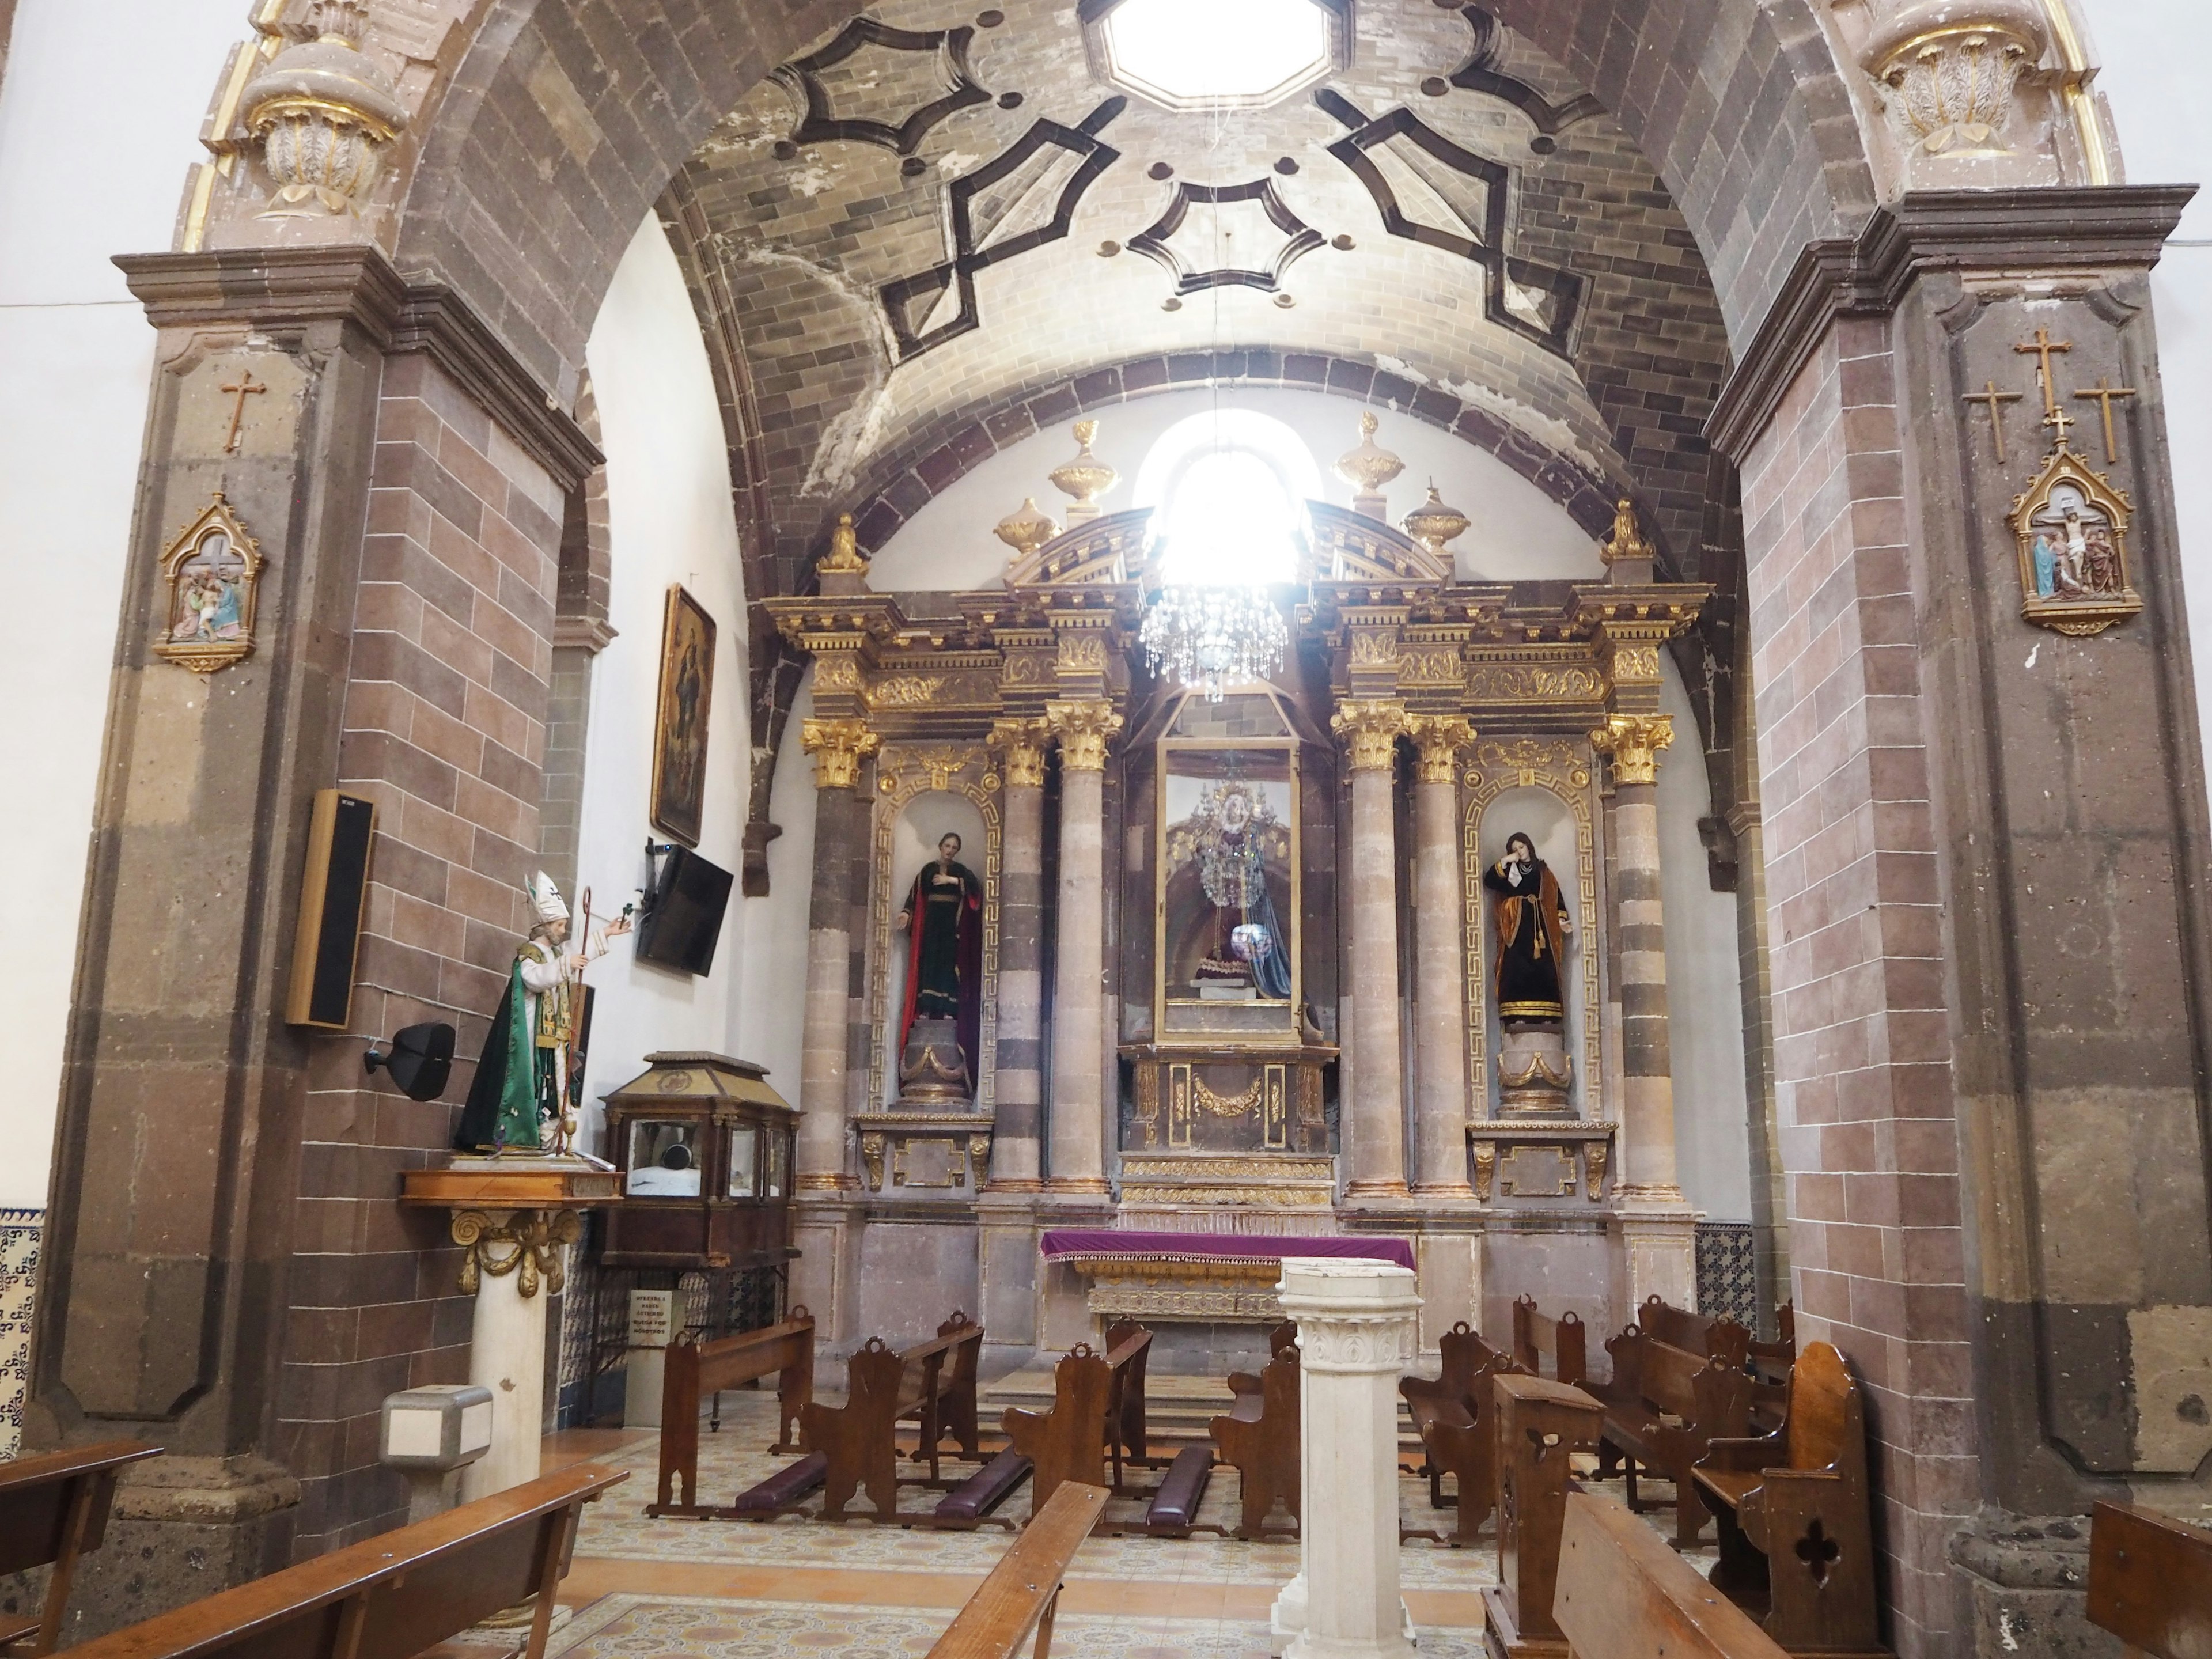
<path fill-rule="evenodd" d="M 2205 0 L 2075 0 L 2090 27 L 2128 184 L 2212 184 Z M 2212 197 L 2199 195 L 2150 276 L 2166 383 L 2166 438 L 2181 513 L 2181 568 L 2197 659 L 2197 717 L 2212 714 Z"/>

